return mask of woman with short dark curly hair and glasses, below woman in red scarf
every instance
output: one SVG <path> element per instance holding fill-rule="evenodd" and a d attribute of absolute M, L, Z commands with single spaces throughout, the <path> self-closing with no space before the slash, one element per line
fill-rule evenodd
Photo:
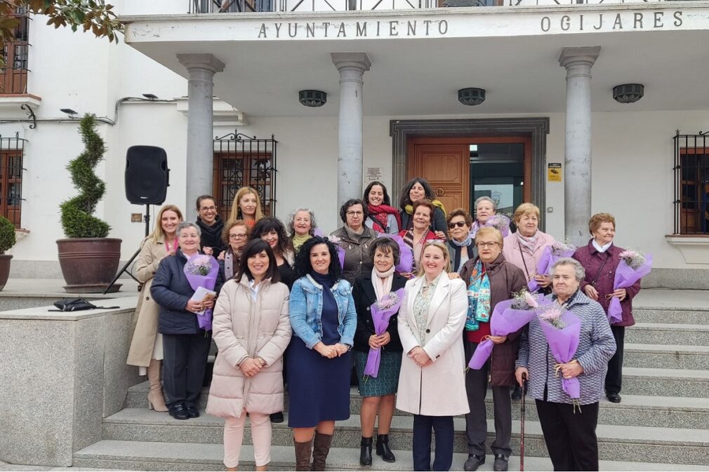
<path fill-rule="evenodd" d="M 330 233 L 330 240 L 345 249 L 345 264 L 342 266 L 342 279 L 354 284 L 362 274 L 372 272 L 372 257 L 369 246 L 376 238 L 376 232 L 364 225 L 367 215 L 367 203 L 359 198 L 351 198 L 340 207 L 340 218 L 345 223 L 340 229 Z"/>

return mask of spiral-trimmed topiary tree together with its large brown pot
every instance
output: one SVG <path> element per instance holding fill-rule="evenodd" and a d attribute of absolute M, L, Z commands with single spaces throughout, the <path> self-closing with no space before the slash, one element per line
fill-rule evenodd
<path fill-rule="evenodd" d="M 96 116 L 86 114 L 79 122 L 85 149 L 67 164 L 79 195 L 62 202 L 62 227 L 67 239 L 57 240 L 59 263 L 67 292 L 100 293 L 113 280 L 121 260 L 121 240 L 108 236 L 111 227 L 96 218 L 96 204 L 104 197 L 106 184 L 94 169 L 104 159 L 106 145 L 96 133 Z M 118 291 L 116 283 L 111 291 Z"/>

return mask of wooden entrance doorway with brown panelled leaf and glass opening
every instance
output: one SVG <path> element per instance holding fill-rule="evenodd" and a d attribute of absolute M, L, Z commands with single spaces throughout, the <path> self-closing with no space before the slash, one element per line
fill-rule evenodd
<path fill-rule="evenodd" d="M 531 138 L 414 137 L 408 140 L 407 177 L 424 177 L 447 211 L 471 214 L 479 196 L 510 213 L 531 197 Z"/>

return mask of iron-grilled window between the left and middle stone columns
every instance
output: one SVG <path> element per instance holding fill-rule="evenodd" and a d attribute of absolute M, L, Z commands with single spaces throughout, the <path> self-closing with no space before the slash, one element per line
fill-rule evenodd
<path fill-rule="evenodd" d="M 213 195 L 228 220 L 236 192 L 250 186 L 259 193 L 264 215 L 276 213 L 276 145 L 269 140 L 231 133 L 214 140 Z"/>

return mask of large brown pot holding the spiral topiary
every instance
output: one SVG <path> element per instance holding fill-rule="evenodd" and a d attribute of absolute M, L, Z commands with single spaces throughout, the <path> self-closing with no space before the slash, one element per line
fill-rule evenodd
<path fill-rule="evenodd" d="M 113 237 L 75 237 L 57 240 L 64 289 L 70 293 L 101 293 L 118 271 L 121 240 Z M 110 292 L 121 288 L 115 283 Z"/>

